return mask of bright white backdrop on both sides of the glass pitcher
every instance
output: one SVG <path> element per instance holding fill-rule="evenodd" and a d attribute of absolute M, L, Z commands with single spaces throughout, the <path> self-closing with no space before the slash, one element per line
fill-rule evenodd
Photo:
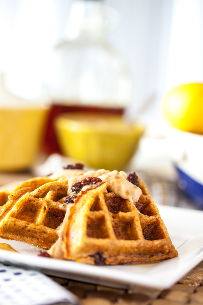
<path fill-rule="evenodd" d="M 133 78 L 132 118 L 143 104 L 159 115 L 163 92 L 203 82 L 203 0 L 105 0 L 122 20 L 110 41 Z M 40 96 L 47 55 L 59 41 L 71 0 L 0 0 L 0 70 L 10 91 Z"/>

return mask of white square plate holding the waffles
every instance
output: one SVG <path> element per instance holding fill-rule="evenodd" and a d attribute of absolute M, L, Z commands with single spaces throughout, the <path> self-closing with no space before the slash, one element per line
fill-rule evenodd
<path fill-rule="evenodd" d="M 0 261 L 34 268 L 46 274 L 117 288 L 147 286 L 166 289 L 203 260 L 203 211 L 158 206 L 179 256 L 154 264 L 92 266 L 72 261 L 37 257 L 39 248 L 0 239 L 19 253 L 0 250 Z"/>

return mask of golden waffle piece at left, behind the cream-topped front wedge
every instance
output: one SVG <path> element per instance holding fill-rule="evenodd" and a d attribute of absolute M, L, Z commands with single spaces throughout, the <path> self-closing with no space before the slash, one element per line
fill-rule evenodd
<path fill-rule="evenodd" d="M 65 211 L 57 202 L 67 196 L 68 181 L 35 178 L 23 182 L 9 195 L 0 215 L 0 237 L 49 249 L 56 242 L 56 228 Z"/>

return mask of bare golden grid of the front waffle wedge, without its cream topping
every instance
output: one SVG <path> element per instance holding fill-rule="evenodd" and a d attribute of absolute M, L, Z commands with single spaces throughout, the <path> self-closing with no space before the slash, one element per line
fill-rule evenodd
<path fill-rule="evenodd" d="M 139 182 L 140 213 L 129 200 L 107 192 L 108 182 L 82 191 L 63 227 L 64 259 L 114 265 L 151 263 L 178 255 L 156 205 Z"/>

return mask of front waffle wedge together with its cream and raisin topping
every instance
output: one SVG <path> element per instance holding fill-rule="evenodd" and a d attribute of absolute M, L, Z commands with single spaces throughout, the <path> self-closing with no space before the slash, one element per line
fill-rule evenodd
<path fill-rule="evenodd" d="M 123 171 L 99 170 L 70 180 L 63 203 L 66 215 L 59 239 L 47 252 L 50 257 L 114 265 L 151 263 L 178 255 L 156 205 L 135 173 L 127 177 Z"/>

